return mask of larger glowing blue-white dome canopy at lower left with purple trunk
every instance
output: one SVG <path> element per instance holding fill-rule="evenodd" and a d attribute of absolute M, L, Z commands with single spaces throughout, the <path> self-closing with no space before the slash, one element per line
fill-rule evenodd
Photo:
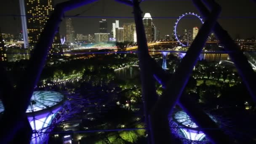
<path fill-rule="evenodd" d="M 27 118 L 33 130 L 31 144 L 42 144 L 56 114 L 65 104 L 65 97 L 55 91 L 35 91 L 27 108 Z M 0 113 L 4 111 L 0 101 Z M 56 121 L 56 120 L 55 120 Z"/>

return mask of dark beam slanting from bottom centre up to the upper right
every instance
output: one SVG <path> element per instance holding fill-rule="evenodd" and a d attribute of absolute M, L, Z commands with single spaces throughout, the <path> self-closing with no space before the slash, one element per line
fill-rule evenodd
<path fill-rule="evenodd" d="M 166 135 L 166 133 L 171 133 L 167 126 L 168 115 L 173 112 L 173 107 L 179 100 L 184 87 L 187 85 L 192 69 L 197 62 L 209 33 L 216 23 L 220 11 L 220 6 L 215 3 L 211 15 L 208 16 L 207 20 L 199 30 L 197 37 L 187 51 L 186 56 L 182 59 L 176 73 L 171 77 L 171 80 L 168 81 L 163 95 L 152 109 L 150 120 L 152 122 L 152 131 L 156 132 L 153 133 L 153 144 L 171 144 L 171 139 L 168 139 Z M 210 140 L 213 143 L 220 143 L 221 141 L 216 139 Z"/>

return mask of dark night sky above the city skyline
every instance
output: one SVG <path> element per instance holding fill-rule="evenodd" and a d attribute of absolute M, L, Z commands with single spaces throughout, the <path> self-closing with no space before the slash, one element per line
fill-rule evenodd
<path fill-rule="evenodd" d="M 3 2 L 4 1 L 4 2 Z M 66 0 L 55 0 L 60 3 Z M 222 6 L 219 23 L 232 37 L 240 34 L 240 37 L 247 38 L 256 36 L 256 3 L 253 0 L 216 0 Z M 153 17 L 153 23 L 160 28 L 161 37 L 170 35 L 173 31 L 176 18 L 154 18 L 154 17 L 179 17 L 186 12 L 200 14 L 191 0 L 145 0 L 141 4 L 144 13 L 148 12 Z M 3 33 L 16 34 L 21 30 L 21 19 L 19 16 L 3 16 L 6 14 L 19 15 L 19 0 L 1 0 L 0 5 L 0 27 Z M 115 2 L 114 0 L 99 0 L 96 3 L 85 5 L 66 13 L 66 16 L 80 17 L 73 18 L 75 33 L 93 34 L 99 32 L 99 20 L 101 18 L 84 18 L 83 16 L 118 16 L 132 17 L 132 8 Z M 112 22 L 120 21 L 122 26 L 125 22 L 132 22 L 132 18 L 103 18 L 107 19 L 108 31 L 111 32 Z M 183 19 L 179 23 L 178 32 L 183 29 L 200 27 L 199 19 Z M 60 27 L 61 35 L 65 34 L 64 22 Z"/>

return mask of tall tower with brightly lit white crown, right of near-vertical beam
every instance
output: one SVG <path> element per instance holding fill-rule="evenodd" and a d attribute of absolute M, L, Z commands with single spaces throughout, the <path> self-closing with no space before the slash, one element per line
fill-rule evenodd
<path fill-rule="evenodd" d="M 145 13 L 143 17 L 143 24 L 145 29 L 145 34 L 147 37 L 147 41 L 154 40 L 154 24 L 152 23 L 152 17 L 150 13 Z"/>

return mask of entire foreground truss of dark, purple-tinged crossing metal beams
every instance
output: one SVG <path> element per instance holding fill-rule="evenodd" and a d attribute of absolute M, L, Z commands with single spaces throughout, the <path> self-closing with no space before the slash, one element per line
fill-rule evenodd
<path fill-rule="evenodd" d="M 26 109 L 30 98 L 38 82 L 42 69 L 44 67 L 49 47 L 52 44 L 53 37 L 57 32 L 61 17 L 66 11 L 93 3 L 96 0 L 69 0 L 57 4 L 54 12 L 45 25 L 45 29 L 40 35 L 40 40 L 35 46 L 34 53 L 29 60 L 29 66 L 20 83 L 14 89 L 5 77 L 6 72 L 1 69 L 0 75 L 2 83 L 0 84 L 1 95 L 5 112 L 0 121 L 0 143 L 9 142 L 19 143 L 24 139 L 30 139 L 32 131 L 26 118 Z M 200 28 L 195 40 L 192 42 L 186 56 L 182 59 L 175 74 L 170 77 L 157 63 L 149 56 L 147 40 L 144 31 L 144 25 L 141 16 L 139 0 L 116 0 L 133 8 L 133 14 L 136 24 L 136 34 L 138 43 L 139 67 L 141 70 L 142 97 L 144 102 L 144 115 L 146 119 L 148 139 L 150 144 L 171 144 L 173 136 L 169 128 L 168 115 L 173 113 L 173 107 L 176 104 L 187 112 L 198 127 L 207 135 L 208 139 L 215 144 L 231 144 L 234 140 L 227 136 L 203 110 L 195 105 L 193 101 L 183 93 L 189 76 L 195 66 L 198 56 L 202 51 L 208 35 L 213 31 L 223 43 L 226 51 L 237 67 L 240 77 L 242 77 L 251 97 L 256 101 L 255 81 L 256 75 L 248 63 L 243 52 L 232 41 L 220 24 L 216 21 L 219 17 L 221 7 L 214 0 L 192 0 L 205 17 L 203 26 Z M 203 1 L 203 2 L 202 2 Z M 158 98 L 155 88 L 155 78 L 164 87 L 163 95 Z M 26 81 L 26 85 L 23 82 Z M 16 101 L 13 101 L 16 99 Z M 13 119 L 10 120 L 10 115 Z"/>

